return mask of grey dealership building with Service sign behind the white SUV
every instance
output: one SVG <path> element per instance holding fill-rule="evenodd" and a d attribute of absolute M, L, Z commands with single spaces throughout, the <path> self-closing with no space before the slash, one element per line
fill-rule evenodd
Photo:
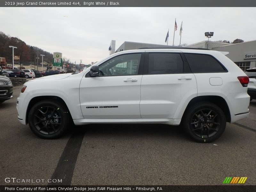
<path fill-rule="evenodd" d="M 115 41 L 111 41 L 109 49 L 115 48 Z M 136 43 L 125 41 L 121 44 L 115 52 L 139 49 L 139 48 L 170 48 L 173 46 L 169 45 L 159 45 L 159 44 L 148 44 L 148 43 Z M 256 67 L 256 40 L 247 41 L 243 43 L 231 44 L 223 42 L 213 42 L 213 41 L 202 41 L 195 44 L 187 45 L 188 48 L 205 48 L 215 51 L 228 52 L 226 55 L 230 60 L 232 60 L 236 65 L 238 65 L 242 70 L 248 68 Z M 111 54 L 114 53 L 112 49 Z"/>

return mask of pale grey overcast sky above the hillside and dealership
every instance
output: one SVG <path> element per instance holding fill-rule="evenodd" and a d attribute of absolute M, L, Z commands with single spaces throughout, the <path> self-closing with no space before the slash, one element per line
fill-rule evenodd
<path fill-rule="evenodd" d="M 111 40 L 116 49 L 124 41 L 163 44 L 169 28 L 172 45 L 174 22 L 178 25 L 174 45 L 236 38 L 256 40 L 255 7 L 80 7 L 3 8 L 0 31 L 47 52 L 62 52 L 76 64 L 89 64 L 109 55 Z M 19 47 L 18 47 L 19 48 Z"/>

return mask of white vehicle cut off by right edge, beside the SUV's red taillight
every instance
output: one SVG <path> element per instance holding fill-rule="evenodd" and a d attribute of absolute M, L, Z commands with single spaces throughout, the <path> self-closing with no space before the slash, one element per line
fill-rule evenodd
<path fill-rule="evenodd" d="M 256 68 L 247 69 L 245 74 L 249 77 L 248 95 L 250 100 L 256 99 Z"/>

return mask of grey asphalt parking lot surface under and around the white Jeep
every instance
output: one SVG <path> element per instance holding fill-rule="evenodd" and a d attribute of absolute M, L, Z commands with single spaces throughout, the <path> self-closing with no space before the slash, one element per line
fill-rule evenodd
<path fill-rule="evenodd" d="M 213 143 L 159 124 L 73 126 L 43 140 L 17 119 L 20 88 L 0 106 L 0 185 L 221 185 L 229 176 L 256 184 L 256 100 L 250 116 L 227 124 Z"/>

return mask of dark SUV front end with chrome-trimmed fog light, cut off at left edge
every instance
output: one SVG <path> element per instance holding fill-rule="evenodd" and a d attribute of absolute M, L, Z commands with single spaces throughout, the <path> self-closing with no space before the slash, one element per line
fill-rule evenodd
<path fill-rule="evenodd" d="M 0 104 L 12 99 L 13 86 L 9 77 L 0 76 Z"/>

